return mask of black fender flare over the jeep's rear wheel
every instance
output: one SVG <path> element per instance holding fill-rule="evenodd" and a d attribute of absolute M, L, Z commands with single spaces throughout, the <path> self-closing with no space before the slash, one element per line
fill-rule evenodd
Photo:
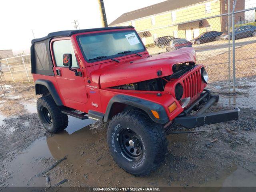
<path fill-rule="evenodd" d="M 60 96 L 58 95 L 58 92 L 56 91 L 56 88 L 54 87 L 53 83 L 49 80 L 44 80 L 44 79 L 38 79 L 35 82 L 35 89 L 36 89 L 36 85 L 43 85 L 46 86 L 46 88 L 48 89 L 48 91 L 50 92 L 53 100 L 55 101 L 56 105 L 58 106 L 62 106 L 63 103 L 60 99 Z M 36 94 L 40 94 L 38 92 L 38 90 L 36 89 Z"/>

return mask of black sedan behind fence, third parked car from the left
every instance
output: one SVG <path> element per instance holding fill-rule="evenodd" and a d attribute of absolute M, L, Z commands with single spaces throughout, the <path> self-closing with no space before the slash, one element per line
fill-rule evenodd
<path fill-rule="evenodd" d="M 218 32 L 218 31 L 204 32 L 200 34 L 197 38 L 190 40 L 190 42 L 192 42 L 192 44 L 201 44 L 201 43 L 208 43 L 212 41 L 218 41 L 220 40 L 221 34 L 223 34 L 223 32 Z"/>

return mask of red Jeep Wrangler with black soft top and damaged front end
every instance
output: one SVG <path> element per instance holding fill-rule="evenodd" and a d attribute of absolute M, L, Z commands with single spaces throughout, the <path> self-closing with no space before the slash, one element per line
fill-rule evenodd
<path fill-rule="evenodd" d="M 166 130 L 237 120 L 234 110 L 205 113 L 218 96 L 193 48 L 150 56 L 132 26 L 60 31 L 32 40 L 37 111 L 48 132 L 64 130 L 68 115 L 108 122 L 116 163 L 146 175 L 164 160 Z M 190 112 L 196 114 L 190 115 Z"/>

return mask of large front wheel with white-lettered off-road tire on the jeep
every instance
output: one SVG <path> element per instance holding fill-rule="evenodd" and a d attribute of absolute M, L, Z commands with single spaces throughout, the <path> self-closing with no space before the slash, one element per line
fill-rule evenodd
<path fill-rule="evenodd" d="M 107 139 L 110 154 L 118 166 L 137 176 L 154 171 L 167 152 L 168 141 L 162 126 L 137 110 L 127 110 L 114 116 L 108 124 Z M 132 144 L 135 156 L 130 151 Z M 138 149 L 142 152 L 137 157 Z"/>

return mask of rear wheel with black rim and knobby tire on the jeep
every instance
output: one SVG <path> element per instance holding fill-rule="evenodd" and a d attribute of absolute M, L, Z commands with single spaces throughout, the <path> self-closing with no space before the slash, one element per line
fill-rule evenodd
<path fill-rule="evenodd" d="M 36 108 L 38 116 L 48 132 L 60 132 L 68 126 L 68 116 L 61 112 L 52 96 L 46 95 L 39 98 Z"/>

